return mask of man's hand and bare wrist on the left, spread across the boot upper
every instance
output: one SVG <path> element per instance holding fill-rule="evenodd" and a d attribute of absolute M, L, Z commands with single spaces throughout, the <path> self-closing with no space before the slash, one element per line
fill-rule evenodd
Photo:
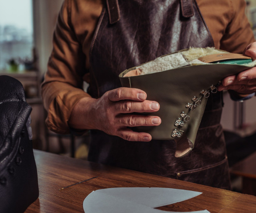
<path fill-rule="evenodd" d="M 159 110 L 157 102 L 147 101 L 146 98 L 144 91 L 125 87 L 108 91 L 99 99 L 82 98 L 71 113 L 69 125 L 75 129 L 102 130 L 128 141 L 151 141 L 150 134 L 127 128 L 161 124 L 157 116 L 130 114 Z"/>

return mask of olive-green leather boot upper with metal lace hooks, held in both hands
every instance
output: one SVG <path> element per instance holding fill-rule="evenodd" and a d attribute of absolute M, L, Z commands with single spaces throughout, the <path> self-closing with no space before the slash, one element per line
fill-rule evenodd
<path fill-rule="evenodd" d="M 183 51 L 184 50 L 181 50 L 180 52 Z M 240 58 L 240 55 L 237 54 L 237 57 Z M 177 147 L 180 141 L 184 141 L 184 137 L 186 137 L 188 142 L 187 146 L 185 144 L 185 147 L 187 149 L 189 149 L 189 147 L 193 149 L 208 98 L 204 98 L 203 96 L 201 105 L 190 112 L 189 121 L 184 122 L 185 126 L 180 128 L 180 130 L 184 131 L 182 137 L 173 137 L 172 131 L 179 129 L 179 127 L 175 126 L 176 119 L 181 118 L 181 112 L 185 112 L 186 114 L 189 112 L 189 109 L 186 108 L 186 104 L 193 103 L 192 98 L 195 96 L 198 98 L 201 97 L 200 92 L 203 89 L 209 90 L 210 86 L 216 85 L 221 79 L 230 75 L 236 75 L 249 68 L 251 67 L 217 63 L 184 66 L 147 75 L 123 77 L 123 75 L 136 69 L 136 67 L 125 70 L 119 75 L 122 86 L 142 89 L 147 93 L 148 100 L 155 100 L 160 104 L 158 112 L 143 113 L 143 115 L 159 116 L 162 120 L 159 126 L 134 127 L 133 130 L 136 132 L 148 132 L 153 139 L 157 140 L 176 139 Z M 212 93 L 210 93 L 210 96 L 211 95 Z M 192 144 L 190 144 L 191 142 Z"/>

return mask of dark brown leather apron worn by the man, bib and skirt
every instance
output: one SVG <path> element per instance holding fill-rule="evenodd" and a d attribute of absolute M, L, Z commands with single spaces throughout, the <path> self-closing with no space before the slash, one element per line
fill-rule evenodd
<path fill-rule="evenodd" d="M 121 87 L 125 69 L 189 46 L 214 46 L 194 0 L 108 0 L 91 44 L 88 93 L 99 98 Z M 221 111 L 218 92 L 208 99 L 195 148 L 183 158 L 174 156 L 175 141 L 131 142 L 91 130 L 88 160 L 229 189 Z"/>

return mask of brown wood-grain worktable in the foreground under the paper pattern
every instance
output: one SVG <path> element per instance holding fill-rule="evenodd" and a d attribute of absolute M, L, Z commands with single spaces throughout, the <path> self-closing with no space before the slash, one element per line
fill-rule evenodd
<path fill-rule="evenodd" d="M 211 213 L 256 212 L 256 197 L 185 181 L 154 176 L 132 170 L 109 167 L 79 159 L 35 150 L 38 169 L 39 199 L 26 213 L 84 213 L 83 200 L 93 190 L 111 187 L 167 187 L 202 192 L 201 195 L 158 209 Z M 59 190 L 94 176 L 88 182 Z"/>

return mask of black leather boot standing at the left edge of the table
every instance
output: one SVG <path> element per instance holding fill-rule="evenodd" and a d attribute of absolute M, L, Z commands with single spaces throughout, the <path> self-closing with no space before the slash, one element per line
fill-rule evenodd
<path fill-rule="evenodd" d="M 22 213 L 38 198 L 38 176 L 29 126 L 31 107 L 22 84 L 0 76 L 0 212 Z"/>

